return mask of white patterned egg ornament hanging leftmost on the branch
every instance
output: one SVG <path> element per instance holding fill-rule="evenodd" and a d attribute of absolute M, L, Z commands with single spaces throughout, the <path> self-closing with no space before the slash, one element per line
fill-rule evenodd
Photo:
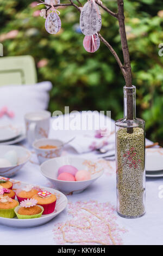
<path fill-rule="evenodd" d="M 45 28 L 49 34 L 57 34 L 61 28 L 61 20 L 57 13 L 50 13 L 45 21 Z"/>

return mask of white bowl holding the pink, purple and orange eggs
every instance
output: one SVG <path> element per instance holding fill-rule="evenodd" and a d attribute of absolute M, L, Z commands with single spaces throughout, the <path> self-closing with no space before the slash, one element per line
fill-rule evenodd
<path fill-rule="evenodd" d="M 90 162 L 92 165 L 96 165 L 96 168 L 92 168 L 89 164 L 85 164 Z M 57 180 L 58 169 L 62 165 L 73 165 L 78 170 L 87 170 L 91 172 L 91 179 L 87 181 L 61 181 Z M 97 178 L 99 178 L 103 174 L 103 170 L 101 170 L 100 166 L 97 165 L 92 160 L 86 160 L 80 157 L 57 157 L 51 160 L 48 160 L 41 164 L 40 168 L 41 174 L 48 178 L 55 187 L 66 194 L 70 193 L 79 193 L 82 192 L 86 187 L 90 186 Z"/>

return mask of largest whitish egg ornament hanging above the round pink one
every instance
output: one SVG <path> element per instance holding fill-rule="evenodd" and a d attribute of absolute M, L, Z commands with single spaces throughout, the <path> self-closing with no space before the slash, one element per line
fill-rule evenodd
<path fill-rule="evenodd" d="M 95 0 L 84 4 L 80 14 L 80 29 L 84 35 L 93 35 L 100 31 L 102 26 L 101 13 Z"/>

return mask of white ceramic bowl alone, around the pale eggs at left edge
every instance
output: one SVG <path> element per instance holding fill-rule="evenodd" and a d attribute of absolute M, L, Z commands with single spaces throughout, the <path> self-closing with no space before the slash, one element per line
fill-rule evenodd
<path fill-rule="evenodd" d="M 24 164 L 28 162 L 31 152 L 21 146 L 0 145 L 0 157 L 3 158 L 9 150 L 15 150 L 18 156 L 18 164 L 9 167 L 0 167 L 0 175 L 4 177 L 12 177 L 19 171 Z"/>

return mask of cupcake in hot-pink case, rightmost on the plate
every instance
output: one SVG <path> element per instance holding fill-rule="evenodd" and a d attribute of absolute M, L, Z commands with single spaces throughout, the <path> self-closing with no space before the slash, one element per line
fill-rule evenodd
<path fill-rule="evenodd" d="M 57 198 L 47 190 L 43 190 L 33 197 L 37 204 L 43 206 L 43 215 L 54 212 Z"/>

